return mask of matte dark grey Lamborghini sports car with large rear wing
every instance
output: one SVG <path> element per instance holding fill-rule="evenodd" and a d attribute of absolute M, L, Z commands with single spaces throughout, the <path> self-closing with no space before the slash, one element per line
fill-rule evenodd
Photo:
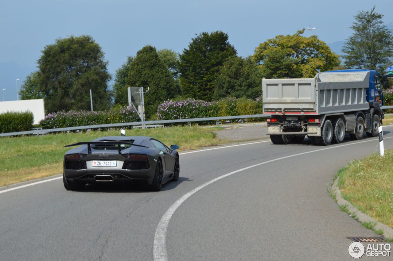
<path fill-rule="evenodd" d="M 110 136 L 78 146 L 64 155 L 63 183 L 66 190 L 82 190 L 88 183 L 144 182 L 153 190 L 179 179 L 179 146 L 165 146 L 152 137 Z"/>

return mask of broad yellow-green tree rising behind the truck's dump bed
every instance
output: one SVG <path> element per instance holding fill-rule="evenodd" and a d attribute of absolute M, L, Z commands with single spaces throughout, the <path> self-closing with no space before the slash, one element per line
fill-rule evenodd
<path fill-rule="evenodd" d="M 316 35 L 304 37 L 305 29 L 294 35 L 277 35 L 259 44 L 253 59 L 265 78 L 314 77 L 339 65 L 338 55 Z"/>

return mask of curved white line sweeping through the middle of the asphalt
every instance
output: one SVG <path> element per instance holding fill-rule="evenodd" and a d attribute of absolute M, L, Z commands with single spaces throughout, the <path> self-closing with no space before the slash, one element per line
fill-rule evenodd
<path fill-rule="evenodd" d="M 388 137 L 385 139 L 391 139 L 393 137 Z M 323 150 L 331 150 L 331 149 L 335 149 L 335 148 L 340 148 L 340 147 L 345 147 L 345 146 L 351 146 L 351 145 L 356 145 L 356 144 L 360 144 L 360 143 L 364 143 L 364 142 L 370 142 L 370 141 L 376 141 L 378 139 L 370 139 L 367 141 L 359 141 L 359 142 L 354 142 L 354 143 L 350 143 L 350 144 L 343 144 L 343 145 L 338 145 L 338 146 L 331 146 L 328 148 L 323 148 L 323 149 L 319 149 L 319 150 L 312 150 L 312 151 L 307 151 L 307 152 L 302 152 L 302 153 L 298 153 L 298 154 L 294 154 L 294 155 L 289 155 L 289 156 L 285 156 L 285 157 L 281 157 L 278 159 L 272 159 L 270 161 L 265 161 L 265 162 L 261 162 L 252 166 L 248 166 L 246 168 L 242 168 L 240 170 L 235 170 L 233 172 L 224 174 L 220 177 L 217 177 L 215 179 L 212 179 L 196 188 L 194 188 L 193 190 L 191 190 L 190 192 L 184 194 L 180 199 L 178 199 L 175 203 L 172 204 L 172 206 L 170 206 L 168 208 L 168 210 L 165 212 L 165 214 L 162 216 L 160 223 L 158 223 L 158 226 L 156 228 L 156 234 L 154 235 L 154 244 L 153 244 L 153 259 L 154 261 L 167 261 L 167 248 L 166 248 L 166 233 L 167 233 L 167 228 L 168 228 L 168 224 L 169 221 L 171 220 L 171 217 L 173 215 L 173 213 L 176 211 L 176 209 L 189 197 L 191 197 L 191 195 L 193 195 L 194 193 L 196 193 L 198 190 L 201 190 L 202 188 L 208 186 L 209 184 L 218 181 L 220 179 L 223 179 L 225 177 L 228 177 L 232 174 L 238 173 L 238 172 L 242 172 L 243 170 L 248 170 L 250 168 L 255 168 L 257 166 L 261 166 L 263 164 L 267 164 L 270 162 L 274 162 L 274 161 L 279 161 L 282 159 L 287 159 L 290 157 L 296 157 L 296 156 L 300 156 L 300 155 L 304 155 L 304 154 L 309 154 L 309 153 L 314 153 L 314 152 L 318 152 L 318 151 L 323 151 Z"/>

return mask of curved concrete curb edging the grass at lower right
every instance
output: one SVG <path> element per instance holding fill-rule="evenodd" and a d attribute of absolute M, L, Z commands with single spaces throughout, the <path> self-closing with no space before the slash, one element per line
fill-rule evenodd
<path fill-rule="evenodd" d="M 332 185 L 332 191 L 334 192 L 334 195 L 336 195 L 336 202 L 339 206 L 347 206 L 348 211 L 351 214 L 356 215 L 358 218 L 358 221 L 361 223 L 364 222 L 372 222 L 375 223 L 375 230 L 382 229 L 384 231 L 384 234 L 382 234 L 385 238 L 393 238 L 393 228 L 386 226 L 385 224 L 380 223 L 378 220 L 373 219 L 372 217 L 364 214 L 363 212 L 360 212 L 357 208 L 355 208 L 351 203 L 346 201 L 345 199 L 342 198 L 340 188 L 337 186 L 339 177 L 336 178 Z"/>

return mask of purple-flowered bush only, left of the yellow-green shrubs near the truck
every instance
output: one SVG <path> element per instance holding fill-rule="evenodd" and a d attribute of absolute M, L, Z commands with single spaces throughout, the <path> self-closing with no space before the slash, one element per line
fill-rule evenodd
<path fill-rule="evenodd" d="M 219 108 L 217 102 L 203 100 L 165 100 L 158 105 L 157 115 L 159 120 L 176 120 L 191 118 L 217 117 Z"/>

